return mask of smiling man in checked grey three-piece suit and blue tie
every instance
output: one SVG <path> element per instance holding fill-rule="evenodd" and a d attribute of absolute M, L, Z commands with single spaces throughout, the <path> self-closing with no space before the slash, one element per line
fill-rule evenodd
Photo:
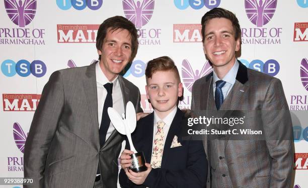
<path fill-rule="evenodd" d="M 213 71 L 195 81 L 192 110 L 206 117 L 222 110 L 242 113 L 246 126 L 262 130 L 264 138 L 205 136 L 207 187 L 290 187 L 292 124 L 281 81 L 237 60 L 241 28 L 232 12 L 212 9 L 201 25 L 203 50 Z"/>

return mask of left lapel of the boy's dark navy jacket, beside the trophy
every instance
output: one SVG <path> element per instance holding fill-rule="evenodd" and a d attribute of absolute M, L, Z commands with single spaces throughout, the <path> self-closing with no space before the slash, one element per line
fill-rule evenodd
<path fill-rule="evenodd" d="M 147 118 L 147 117 L 144 117 Z M 145 161 L 147 163 L 151 162 L 151 157 L 152 157 L 152 148 L 153 148 L 153 125 L 154 125 L 154 112 L 152 112 L 151 114 L 148 115 L 148 121 L 144 121 L 145 124 L 144 125 L 140 125 L 142 126 L 142 132 L 139 135 L 141 136 L 143 139 L 143 154 L 145 157 Z M 139 152 L 139 151 L 138 151 Z"/>

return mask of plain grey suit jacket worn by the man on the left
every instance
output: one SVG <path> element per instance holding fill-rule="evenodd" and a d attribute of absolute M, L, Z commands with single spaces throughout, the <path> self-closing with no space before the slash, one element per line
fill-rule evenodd
<path fill-rule="evenodd" d="M 119 76 L 124 105 L 140 108 L 139 89 Z M 124 108 L 125 109 L 125 108 Z M 44 86 L 25 145 L 24 187 L 93 187 L 100 162 L 104 187 L 117 187 L 123 136 L 100 148 L 95 63 L 55 71 Z"/>

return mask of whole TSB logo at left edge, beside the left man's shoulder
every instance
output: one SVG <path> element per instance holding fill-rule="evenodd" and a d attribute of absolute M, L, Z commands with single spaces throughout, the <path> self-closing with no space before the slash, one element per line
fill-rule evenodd
<path fill-rule="evenodd" d="M 14 76 L 16 73 L 22 77 L 27 77 L 30 74 L 35 77 L 42 77 L 46 74 L 46 65 L 41 60 L 34 60 L 32 63 L 22 59 L 15 63 L 11 59 L 7 59 L 1 64 L 1 71 L 8 77 Z"/>

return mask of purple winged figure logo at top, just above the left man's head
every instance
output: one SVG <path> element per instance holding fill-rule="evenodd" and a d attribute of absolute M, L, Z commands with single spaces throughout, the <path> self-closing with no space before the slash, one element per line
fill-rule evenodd
<path fill-rule="evenodd" d="M 151 19 L 154 3 L 154 0 L 142 0 L 142 3 L 137 1 L 137 4 L 135 4 L 134 0 L 123 0 L 125 17 L 139 29 Z"/>

